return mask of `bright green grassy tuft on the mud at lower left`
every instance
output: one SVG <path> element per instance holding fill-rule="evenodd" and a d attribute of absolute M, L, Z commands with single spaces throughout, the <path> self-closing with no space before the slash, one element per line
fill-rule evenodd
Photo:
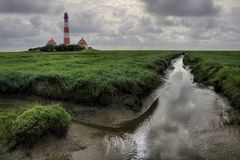
<path fill-rule="evenodd" d="M 0 159 L 17 146 L 31 147 L 46 135 L 64 137 L 70 115 L 60 106 L 39 104 L 0 109 Z"/>

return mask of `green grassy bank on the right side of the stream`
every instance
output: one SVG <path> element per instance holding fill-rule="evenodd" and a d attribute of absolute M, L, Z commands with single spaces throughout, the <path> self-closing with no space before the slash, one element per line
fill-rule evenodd
<path fill-rule="evenodd" d="M 214 86 L 226 95 L 235 108 L 229 111 L 230 123 L 240 125 L 240 52 L 190 52 L 184 59 L 194 80 Z"/>

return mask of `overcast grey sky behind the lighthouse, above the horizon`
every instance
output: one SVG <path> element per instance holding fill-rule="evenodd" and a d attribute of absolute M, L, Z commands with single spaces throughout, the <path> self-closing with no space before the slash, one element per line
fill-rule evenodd
<path fill-rule="evenodd" d="M 0 50 L 63 41 L 97 49 L 240 49 L 239 0 L 0 0 Z"/>

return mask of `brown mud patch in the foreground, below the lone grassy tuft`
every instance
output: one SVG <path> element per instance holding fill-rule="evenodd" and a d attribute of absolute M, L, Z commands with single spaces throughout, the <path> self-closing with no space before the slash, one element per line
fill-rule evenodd
<path fill-rule="evenodd" d="M 87 149 L 89 146 L 93 145 L 93 143 L 94 145 L 100 143 L 101 139 L 98 138 L 98 134 L 99 132 L 96 129 L 72 123 L 65 139 L 47 136 L 39 140 L 33 148 L 19 147 L 15 151 L 8 153 L 6 159 L 61 160 L 61 158 L 72 152 L 79 152 Z"/>

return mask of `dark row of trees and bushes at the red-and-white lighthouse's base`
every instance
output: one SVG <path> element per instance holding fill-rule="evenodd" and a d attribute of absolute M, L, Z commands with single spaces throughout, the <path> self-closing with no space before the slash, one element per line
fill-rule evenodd
<path fill-rule="evenodd" d="M 41 52 L 66 52 L 66 51 L 82 51 L 86 49 L 85 47 L 81 47 L 79 45 L 69 45 L 66 46 L 64 44 L 57 45 L 57 46 L 51 46 L 46 45 L 43 47 L 37 47 L 37 48 L 30 48 L 28 51 L 41 51 Z"/>

